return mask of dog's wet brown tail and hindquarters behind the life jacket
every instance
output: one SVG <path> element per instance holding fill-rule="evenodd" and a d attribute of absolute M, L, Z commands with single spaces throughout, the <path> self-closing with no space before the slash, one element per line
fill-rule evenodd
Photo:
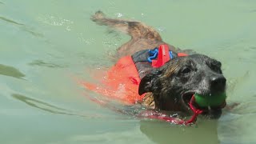
<path fill-rule="evenodd" d="M 97 11 L 91 17 L 91 20 L 98 23 L 98 25 L 110 26 L 131 36 L 129 42 L 118 48 L 119 57 L 126 54 L 134 54 L 138 50 L 154 48 L 165 43 L 162 42 L 162 38 L 157 30 L 146 26 L 142 22 L 106 18 L 102 11 Z"/>

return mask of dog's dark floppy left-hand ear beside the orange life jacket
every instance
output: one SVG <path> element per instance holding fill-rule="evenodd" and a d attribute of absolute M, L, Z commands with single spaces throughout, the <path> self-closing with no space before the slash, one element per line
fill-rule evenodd
<path fill-rule="evenodd" d="M 157 70 L 152 71 L 150 74 L 146 74 L 139 83 L 138 94 L 142 95 L 147 92 L 153 92 L 159 74 L 160 72 Z"/>

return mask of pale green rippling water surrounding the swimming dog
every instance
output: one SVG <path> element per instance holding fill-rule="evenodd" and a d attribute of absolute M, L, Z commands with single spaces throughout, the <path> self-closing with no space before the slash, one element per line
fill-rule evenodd
<path fill-rule="evenodd" d="M 139 120 L 91 102 L 78 80 L 129 37 L 90 22 L 102 10 L 222 61 L 228 103 L 197 126 Z M 1 143 L 256 143 L 256 2 L 0 0 Z M 90 96 L 94 96 L 90 93 Z M 96 95 L 95 95 L 96 96 Z"/>

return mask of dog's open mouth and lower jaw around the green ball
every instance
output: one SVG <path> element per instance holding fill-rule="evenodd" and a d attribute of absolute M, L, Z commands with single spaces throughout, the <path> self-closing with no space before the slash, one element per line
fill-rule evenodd
<path fill-rule="evenodd" d="M 191 106 L 193 106 L 194 110 L 202 110 L 202 115 L 206 118 L 217 119 L 222 115 L 222 108 L 226 106 L 226 100 L 223 100 L 221 104 L 218 106 L 199 106 L 194 98 L 195 92 L 187 92 L 182 94 L 182 103 L 183 106 L 186 106 L 186 110 L 191 110 Z"/>

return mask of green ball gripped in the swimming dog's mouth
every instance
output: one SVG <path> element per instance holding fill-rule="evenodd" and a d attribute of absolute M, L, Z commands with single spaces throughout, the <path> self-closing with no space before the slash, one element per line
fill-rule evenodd
<path fill-rule="evenodd" d="M 201 94 L 194 94 L 195 102 L 198 106 L 207 107 L 207 106 L 220 106 L 226 100 L 226 94 L 216 94 L 210 96 L 204 96 Z"/>

